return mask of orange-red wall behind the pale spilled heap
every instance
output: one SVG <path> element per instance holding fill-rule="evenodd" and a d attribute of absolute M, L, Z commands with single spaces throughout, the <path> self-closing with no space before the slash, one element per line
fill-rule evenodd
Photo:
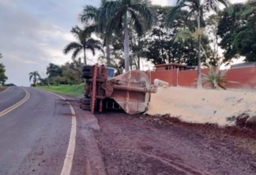
<path fill-rule="evenodd" d="M 208 69 L 202 69 L 202 73 L 207 74 Z M 160 79 L 167 81 L 171 86 L 196 87 L 198 70 L 179 71 L 176 69 L 164 70 L 159 72 L 151 72 L 151 80 Z M 235 81 L 230 83 L 231 88 L 255 88 L 256 89 L 256 66 L 228 69 L 226 80 Z M 203 84 L 204 85 L 204 84 Z"/>

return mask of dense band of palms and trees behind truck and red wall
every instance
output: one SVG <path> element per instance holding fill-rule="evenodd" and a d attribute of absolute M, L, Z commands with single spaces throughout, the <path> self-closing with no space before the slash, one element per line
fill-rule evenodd
<path fill-rule="evenodd" d="M 81 24 L 70 30 L 76 41 L 62 50 L 72 53 L 72 61 L 50 63 L 47 76 L 38 77 L 36 84 L 81 84 L 83 64 L 98 62 L 122 73 L 145 69 L 150 61 L 198 66 L 201 87 L 201 66 L 228 65 L 241 57 L 256 61 L 255 9 L 256 0 L 236 4 L 178 0 L 175 6 L 153 6 L 150 0 L 102 0 L 100 6 L 84 6 L 77 12 Z M 97 60 L 92 61 L 88 51 L 99 55 Z"/>

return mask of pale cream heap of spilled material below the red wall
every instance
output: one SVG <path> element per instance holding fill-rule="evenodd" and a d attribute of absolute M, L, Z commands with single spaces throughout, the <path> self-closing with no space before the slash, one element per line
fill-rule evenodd
<path fill-rule="evenodd" d="M 232 126 L 240 114 L 256 116 L 255 99 L 255 91 L 159 87 L 157 93 L 152 94 L 146 114 L 170 114 L 190 123 Z"/>

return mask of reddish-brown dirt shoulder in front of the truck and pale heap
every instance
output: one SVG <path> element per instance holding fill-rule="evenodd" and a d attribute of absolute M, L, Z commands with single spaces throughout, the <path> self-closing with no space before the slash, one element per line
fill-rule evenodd
<path fill-rule="evenodd" d="M 96 114 L 107 174 L 256 174 L 256 133 Z"/>

